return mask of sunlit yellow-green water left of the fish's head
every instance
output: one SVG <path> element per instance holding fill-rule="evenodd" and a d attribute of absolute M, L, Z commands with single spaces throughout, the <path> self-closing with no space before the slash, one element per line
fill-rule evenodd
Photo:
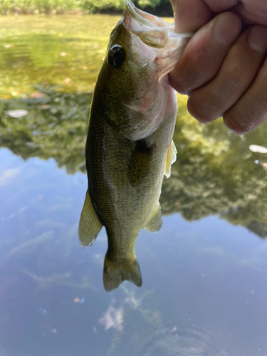
<path fill-rule="evenodd" d="M 107 39 L 118 19 L 96 15 L 39 16 L 38 20 L 33 16 L 3 16 L 1 98 L 28 95 L 36 83 L 61 85 L 61 90 L 68 92 L 92 91 Z"/>

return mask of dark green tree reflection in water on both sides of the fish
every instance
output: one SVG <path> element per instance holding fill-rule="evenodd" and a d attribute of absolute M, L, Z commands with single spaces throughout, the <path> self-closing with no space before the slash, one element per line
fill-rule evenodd
<path fill-rule="evenodd" d="M 84 147 L 91 93 L 63 93 L 59 87 L 36 86 L 31 98 L 0 101 L 0 146 L 23 159 L 53 158 L 69 174 L 85 172 Z M 28 114 L 9 117 L 9 110 Z M 231 224 L 267 236 L 267 157 L 249 145 L 266 145 L 267 124 L 239 137 L 222 120 L 199 125 L 179 95 L 174 132 L 177 162 L 164 179 L 163 214 L 178 212 L 196 220 L 218 214 Z"/>

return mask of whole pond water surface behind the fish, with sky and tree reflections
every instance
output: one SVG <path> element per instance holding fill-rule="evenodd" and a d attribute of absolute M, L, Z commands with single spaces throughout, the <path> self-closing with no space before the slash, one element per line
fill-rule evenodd
<path fill-rule="evenodd" d="M 80 247 L 88 112 L 117 21 L 1 17 L 0 355 L 267 355 L 267 155 L 249 148 L 266 124 L 202 126 L 179 95 L 163 226 L 137 239 L 142 288 L 105 292 L 105 229 Z"/>

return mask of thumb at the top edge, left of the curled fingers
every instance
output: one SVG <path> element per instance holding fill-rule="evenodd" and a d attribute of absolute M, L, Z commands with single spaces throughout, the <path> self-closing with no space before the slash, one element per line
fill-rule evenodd
<path fill-rule="evenodd" d="M 175 32 L 197 31 L 214 16 L 204 0 L 170 0 L 174 11 Z"/>

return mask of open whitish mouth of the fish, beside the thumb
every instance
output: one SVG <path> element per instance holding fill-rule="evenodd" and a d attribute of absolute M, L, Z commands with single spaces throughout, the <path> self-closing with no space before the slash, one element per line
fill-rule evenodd
<path fill-rule="evenodd" d="M 155 48 L 164 48 L 169 42 L 177 43 L 177 39 L 190 38 L 193 35 L 192 32 L 174 33 L 174 23 L 167 23 L 157 16 L 137 9 L 129 0 L 125 2 L 123 23 L 142 42 Z"/>

